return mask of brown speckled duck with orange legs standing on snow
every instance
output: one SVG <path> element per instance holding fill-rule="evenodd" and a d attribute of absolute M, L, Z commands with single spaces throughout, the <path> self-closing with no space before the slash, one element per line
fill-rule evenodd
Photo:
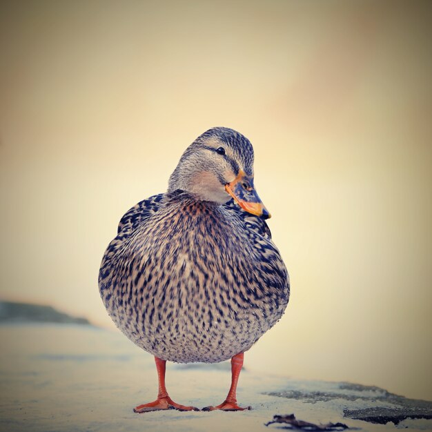
<path fill-rule="evenodd" d="M 211 128 L 186 148 L 166 193 L 121 218 L 99 271 L 99 293 L 117 328 L 155 357 L 159 391 L 136 413 L 195 406 L 174 402 L 166 362 L 230 360 L 221 404 L 243 411 L 237 383 L 244 353 L 282 317 L 290 282 L 254 186 L 251 141 Z"/>

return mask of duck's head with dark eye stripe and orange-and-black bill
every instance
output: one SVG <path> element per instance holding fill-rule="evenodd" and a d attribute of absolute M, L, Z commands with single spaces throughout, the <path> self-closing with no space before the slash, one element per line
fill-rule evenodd
<path fill-rule="evenodd" d="M 233 129 L 209 129 L 186 148 L 168 185 L 177 189 L 218 204 L 233 197 L 248 213 L 270 217 L 253 186 L 252 144 Z"/>

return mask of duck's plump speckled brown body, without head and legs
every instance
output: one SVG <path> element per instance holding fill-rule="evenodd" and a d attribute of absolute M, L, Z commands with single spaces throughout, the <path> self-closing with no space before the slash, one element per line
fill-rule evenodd
<path fill-rule="evenodd" d="M 184 193 L 156 195 L 126 213 L 99 288 L 130 340 L 174 362 L 220 362 L 248 350 L 289 296 L 264 221 Z"/>

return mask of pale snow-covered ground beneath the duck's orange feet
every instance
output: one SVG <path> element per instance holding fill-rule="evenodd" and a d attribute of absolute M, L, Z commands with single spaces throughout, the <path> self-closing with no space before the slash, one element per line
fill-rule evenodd
<path fill-rule="evenodd" d="M 10 324 L 0 326 L 0 340 L 0 431 L 277 431 L 277 424 L 264 423 L 291 413 L 298 420 L 343 422 L 364 431 L 432 430 L 432 420 L 395 426 L 344 418 L 344 409 L 389 402 L 376 399 L 374 391 L 364 396 L 341 390 L 338 383 L 254 373 L 248 368 L 253 353 L 245 356 L 237 393 L 239 404 L 252 411 L 137 414 L 134 406 L 155 399 L 157 375 L 153 357 L 123 335 L 75 324 Z M 168 363 L 166 384 L 180 404 L 219 404 L 229 388 L 230 366 Z M 343 394 L 311 400 L 328 392 Z"/>

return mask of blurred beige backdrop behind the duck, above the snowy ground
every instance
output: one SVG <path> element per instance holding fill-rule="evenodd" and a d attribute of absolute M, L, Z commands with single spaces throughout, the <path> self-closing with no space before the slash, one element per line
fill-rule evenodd
<path fill-rule="evenodd" d="M 292 282 L 246 366 L 432 399 L 430 1 L 0 8 L 0 298 L 112 326 L 121 215 L 228 126 Z"/>

